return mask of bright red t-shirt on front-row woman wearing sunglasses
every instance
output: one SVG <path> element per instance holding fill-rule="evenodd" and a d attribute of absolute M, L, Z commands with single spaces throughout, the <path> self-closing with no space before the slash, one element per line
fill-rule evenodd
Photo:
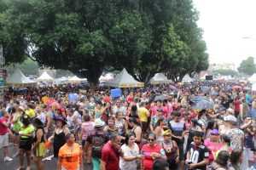
<path fill-rule="evenodd" d="M 154 147 L 149 147 L 148 144 L 144 144 L 142 151 L 144 156 L 144 170 L 152 170 L 154 159 L 151 156 L 152 152 L 160 154 L 161 147 L 160 145 L 156 144 Z"/>

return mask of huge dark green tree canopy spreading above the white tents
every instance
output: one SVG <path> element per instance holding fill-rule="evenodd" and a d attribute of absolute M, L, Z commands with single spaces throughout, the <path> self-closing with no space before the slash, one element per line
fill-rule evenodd
<path fill-rule="evenodd" d="M 105 67 L 143 82 L 208 67 L 191 0 L 5 0 L 0 13 L 8 64 L 30 57 L 93 83 Z"/>

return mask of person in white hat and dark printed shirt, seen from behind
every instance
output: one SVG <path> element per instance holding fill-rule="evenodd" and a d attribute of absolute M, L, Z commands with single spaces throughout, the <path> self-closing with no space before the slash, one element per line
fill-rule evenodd
<path fill-rule="evenodd" d="M 87 152 L 89 146 L 91 146 L 91 158 L 94 170 L 100 170 L 101 158 L 102 158 L 102 148 L 103 145 L 108 142 L 108 133 L 103 131 L 103 125 L 100 118 L 96 119 L 94 122 L 95 132 L 90 133 L 85 141 L 84 153 Z"/>

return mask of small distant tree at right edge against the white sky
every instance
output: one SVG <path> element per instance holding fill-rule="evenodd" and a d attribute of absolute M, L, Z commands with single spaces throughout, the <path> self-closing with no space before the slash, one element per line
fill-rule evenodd
<path fill-rule="evenodd" d="M 237 68 L 237 71 L 240 73 L 245 73 L 248 76 L 252 76 L 256 72 L 256 67 L 254 65 L 253 57 L 248 57 L 241 61 L 240 66 Z"/>

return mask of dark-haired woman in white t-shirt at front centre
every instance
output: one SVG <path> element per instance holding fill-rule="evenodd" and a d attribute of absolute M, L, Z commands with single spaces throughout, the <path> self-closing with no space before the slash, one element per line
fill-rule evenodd
<path fill-rule="evenodd" d="M 135 143 L 134 133 L 125 135 L 125 144 L 121 146 L 121 149 L 124 152 L 124 156 L 120 157 L 119 160 L 120 170 L 137 170 L 137 159 L 143 159 L 143 156 L 139 155 L 139 148 Z"/>

